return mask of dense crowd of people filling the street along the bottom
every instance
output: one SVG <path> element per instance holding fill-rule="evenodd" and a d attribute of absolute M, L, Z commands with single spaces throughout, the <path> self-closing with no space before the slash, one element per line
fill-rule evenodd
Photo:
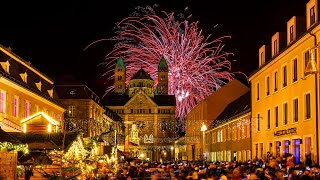
<path fill-rule="evenodd" d="M 137 162 L 119 163 L 117 171 L 99 166 L 99 179 L 207 179 L 207 180 L 300 180 L 320 179 L 319 167 L 307 160 L 294 163 L 293 156 L 269 157 L 246 162 Z"/>

